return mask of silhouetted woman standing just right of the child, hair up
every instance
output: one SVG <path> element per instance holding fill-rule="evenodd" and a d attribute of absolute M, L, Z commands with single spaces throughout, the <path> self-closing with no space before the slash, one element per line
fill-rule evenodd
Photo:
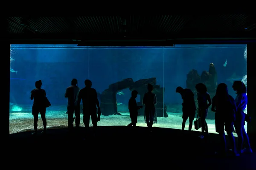
<path fill-rule="evenodd" d="M 153 85 L 148 84 L 148 92 L 143 96 L 143 104 L 145 105 L 144 119 L 150 132 L 154 123 L 154 116 L 156 117 L 155 105 L 157 104 L 157 96 L 152 93 L 153 89 Z"/>

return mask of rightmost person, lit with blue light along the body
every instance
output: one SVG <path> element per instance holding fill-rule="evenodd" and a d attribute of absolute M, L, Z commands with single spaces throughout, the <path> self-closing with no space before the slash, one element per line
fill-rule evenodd
<path fill-rule="evenodd" d="M 244 129 L 244 125 L 245 125 L 244 109 L 247 106 L 246 86 L 241 81 L 235 81 L 232 87 L 237 94 L 235 99 L 237 113 L 236 113 L 236 121 L 234 122 L 237 138 L 238 138 L 237 150 L 239 153 L 253 153 L 250 147 L 249 137 Z M 244 142 L 245 142 L 245 148 L 244 150 L 242 150 Z"/>

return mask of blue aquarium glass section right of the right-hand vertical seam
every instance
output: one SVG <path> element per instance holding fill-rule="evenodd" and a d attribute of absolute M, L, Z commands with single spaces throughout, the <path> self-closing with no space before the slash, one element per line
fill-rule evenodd
<path fill-rule="evenodd" d="M 167 105 L 168 118 L 161 126 L 181 129 L 182 99 L 180 94 L 175 92 L 178 86 L 191 89 L 197 102 L 197 83 L 207 85 L 212 98 L 215 96 L 217 85 L 223 82 L 227 84 L 229 94 L 235 98 L 233 82 L 242 80 L 247 84 L 246 50 L 246 45 L 176 45 L 174 48 L 165 48 L 164 101 Z M 210 63 L 213 63 L 215 71 L 209 70 Z M 215 113 L 210 109 L 207 124 L 209 132 L 215 133 Z M 188 126 L 189 120 L 186 122 L 186 130 Z M 193 125 L 192 130 L 194 129 Z"/>

